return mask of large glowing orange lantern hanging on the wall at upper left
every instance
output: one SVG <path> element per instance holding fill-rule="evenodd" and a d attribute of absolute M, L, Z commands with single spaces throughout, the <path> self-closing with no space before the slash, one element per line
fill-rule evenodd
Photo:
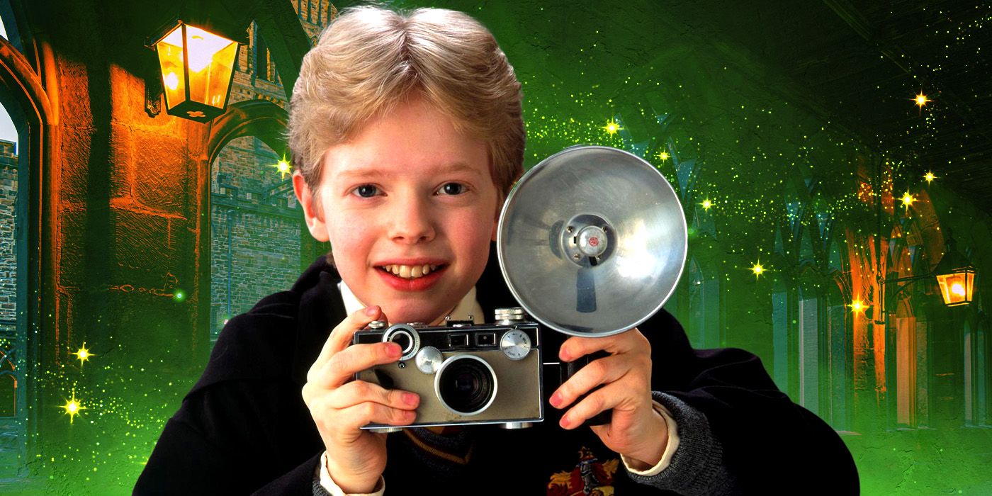
<path fill-rule="evenodd" d="M 178 21 L 149 47 L 159 54 L 169 115 L 206 122 L 224 113 L 237 42 Z"/>

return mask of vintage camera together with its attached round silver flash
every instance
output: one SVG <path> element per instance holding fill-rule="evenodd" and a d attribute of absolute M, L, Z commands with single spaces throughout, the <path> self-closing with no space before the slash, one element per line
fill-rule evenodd
<path fill-rule="evenodd" d="M 376 322 L 353 342 L 394 341 L 403 357 L 355 378 L 420 394 L 413 426 L 529 427 L 545 418 L 543 386 L 605 354 L 543 363 L 543 350 L 557 359 L 558 338 L 617 334 L 661 310 L 687 249 L 679 195 L 654 166 L 614 148 L 568 148 L 531 168 L 500 213 L 499 266 L 521 308 L 482 325 Z M 555 331 L 545 342 L 543 329 Z M 609 422 L 603 414 L 588 424 Z"/>

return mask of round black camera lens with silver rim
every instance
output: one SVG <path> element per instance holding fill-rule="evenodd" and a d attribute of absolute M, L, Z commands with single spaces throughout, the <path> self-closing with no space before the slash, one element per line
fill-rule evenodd
<path fill-rule="evenodd" d="M 441 404 L 458 415 L 476 415 L 496 397 L 496 374 L 475 355 L 455 355 L 434 376 L 434 392 Z"/>

